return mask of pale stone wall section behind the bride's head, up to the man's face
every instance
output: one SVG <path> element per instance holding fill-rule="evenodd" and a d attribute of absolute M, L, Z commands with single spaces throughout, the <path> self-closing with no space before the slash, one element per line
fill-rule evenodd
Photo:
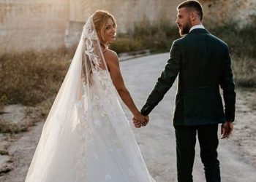
<path fill-rule="evenodd" d="M 87 18 L 97 9 L 104 9 L 116 17 L 118 33 L 133 31 L 140 21 L 154 23 L 160 19 L 170 20 L 175 25 L 176 7 L 182 0 L 97 0 L 70 1 L 70 23 L 67 31 L 67 46 L 78 44 L 81 28 Z"/>

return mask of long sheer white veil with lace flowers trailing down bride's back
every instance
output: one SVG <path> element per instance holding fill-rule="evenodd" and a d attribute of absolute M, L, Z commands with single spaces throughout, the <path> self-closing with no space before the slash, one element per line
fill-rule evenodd
<path fill-rule="evenodd" d="M 43 126 L 26 181 L 48 181 L 48 176 L 56 176 L 56 179 L 62 179 L 61 181 L 78 180 L 68 175 L 75 174 L 77 170 L 73 162 L 81 147 L 74 140 L 83 138 L 78 132 L 84 130 L 78 110 L 83 102 L 83 116 L 90 116 L 86 111 L 90 107 L 92 97 L 91 76 L 99 71 L 108 71 L 108 67 L 91 15 L 83 27 L 72 63 Z M 86 135 L 86 131 L 83 133 Z M 56 169 L 61 173 L 56 173 Z"/>

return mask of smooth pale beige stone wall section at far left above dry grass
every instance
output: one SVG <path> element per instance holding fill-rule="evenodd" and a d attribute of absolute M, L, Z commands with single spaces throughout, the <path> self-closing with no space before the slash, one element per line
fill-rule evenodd
<path fill-rule="evenodd" d="M 64 46 L 68 3 L 0 0 L 0 54 Z"/>

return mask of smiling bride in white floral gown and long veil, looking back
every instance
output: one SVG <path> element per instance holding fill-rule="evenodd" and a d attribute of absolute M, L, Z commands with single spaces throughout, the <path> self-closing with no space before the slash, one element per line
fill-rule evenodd
<path fill-rule="evenodd" d="M 118 95 L 144 123 L 124 85 L 116 52 L 116 20 L 94 12 L 42 129 L 27 182 L 153 182 Z M 117 95 L 118 94 L 118 95 Z"/>

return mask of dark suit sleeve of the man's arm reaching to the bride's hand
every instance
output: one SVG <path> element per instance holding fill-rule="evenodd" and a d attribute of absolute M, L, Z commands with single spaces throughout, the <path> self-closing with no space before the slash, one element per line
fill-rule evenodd
<path fill-rule="evenodd" d="M 155 106 L 162 100 L 165 93 L 172 87 L 179 71 L 181 70 L 181 53 L 176 41 L 170 49 L 170 58 L 162 71 L 161 76 L 157 79 L 157 83 L 151 94 L 148 96 L 145 105 L 140 110 L 141 114 L 148 116 Z"/>

